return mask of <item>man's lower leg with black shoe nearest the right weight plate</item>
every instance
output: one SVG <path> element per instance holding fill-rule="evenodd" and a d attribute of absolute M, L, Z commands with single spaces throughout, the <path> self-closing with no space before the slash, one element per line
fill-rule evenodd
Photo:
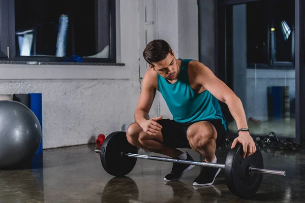
<path fill-rule="evenodd" d="M 217 130 L 211 123 L 200 121 L 192 124 L 187 130 L 187 137 L 191 147 L 205 157 L 206 162 L 217 163 L 216 139 Z M 202 167 L 199 176 L 194 180 L 194 186 L 205 186 L 214 183 L 220 168 Z"/>

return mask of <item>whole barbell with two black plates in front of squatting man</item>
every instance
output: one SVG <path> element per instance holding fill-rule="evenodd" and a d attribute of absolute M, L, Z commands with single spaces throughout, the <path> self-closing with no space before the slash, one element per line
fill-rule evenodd
<path fill-rule="evenodd" d="M 263 157 L 259 148 L 254 154 L 246 158 L 242 158 L 242 149 L 241 144 L 230 149 L 225 164 L 148 156 L 138 154 L 138 148 L 128 142 L 126 132 L 116 131 L 109 134 L 101 148 L 96 149 L 95 152 L 100 154 L 104 170 L 116 177 L 123 177 L 129 174 L 133 170 L 137 158 L 223 168 L 229 190 L 234 195 L 242 198 L 249 198 L 257 192 L 261 185 L 263 174 L 286 176 L 285 171 L 264 169 Z"/>

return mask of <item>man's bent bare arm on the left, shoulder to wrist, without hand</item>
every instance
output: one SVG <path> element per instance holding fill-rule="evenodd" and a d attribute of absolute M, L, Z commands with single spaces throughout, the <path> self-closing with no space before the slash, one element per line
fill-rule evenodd
<path fill-rule="evenodd" d="M 135 110 L 135 122 L 140 125 L 149 119 L 149 110 L 156 95 L 157 73 L 147 70 L 142 81 L 142 90 Z"/>

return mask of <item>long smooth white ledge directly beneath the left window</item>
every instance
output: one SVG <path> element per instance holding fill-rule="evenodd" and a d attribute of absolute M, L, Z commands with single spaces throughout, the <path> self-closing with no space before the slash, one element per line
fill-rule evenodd
<path fill-rule="evenodd" d="M 0 61 L 0 79 L 130 79 L 124 63 Z"/>

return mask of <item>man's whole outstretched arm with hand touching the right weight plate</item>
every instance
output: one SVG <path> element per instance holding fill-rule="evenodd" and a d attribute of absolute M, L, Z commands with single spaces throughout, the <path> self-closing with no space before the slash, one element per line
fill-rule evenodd
<path fill-rule="evenodd" d="M 196 77 L 195 81 L 228 106 L 237 128 L 248 128 L 246 113 L 239 97 L 204 64 L 194 61 L 191 63 L 191 67 Z M 232 143 L 232 148 L 237 142 L 240 142 L 243 145 L 244 157 L 246 157 L 247 152 L 247 155 L 253 154 L 256 151 L 256 146 L 250 133 L 240 131 L 238 134 L 239 136 Z"/>

